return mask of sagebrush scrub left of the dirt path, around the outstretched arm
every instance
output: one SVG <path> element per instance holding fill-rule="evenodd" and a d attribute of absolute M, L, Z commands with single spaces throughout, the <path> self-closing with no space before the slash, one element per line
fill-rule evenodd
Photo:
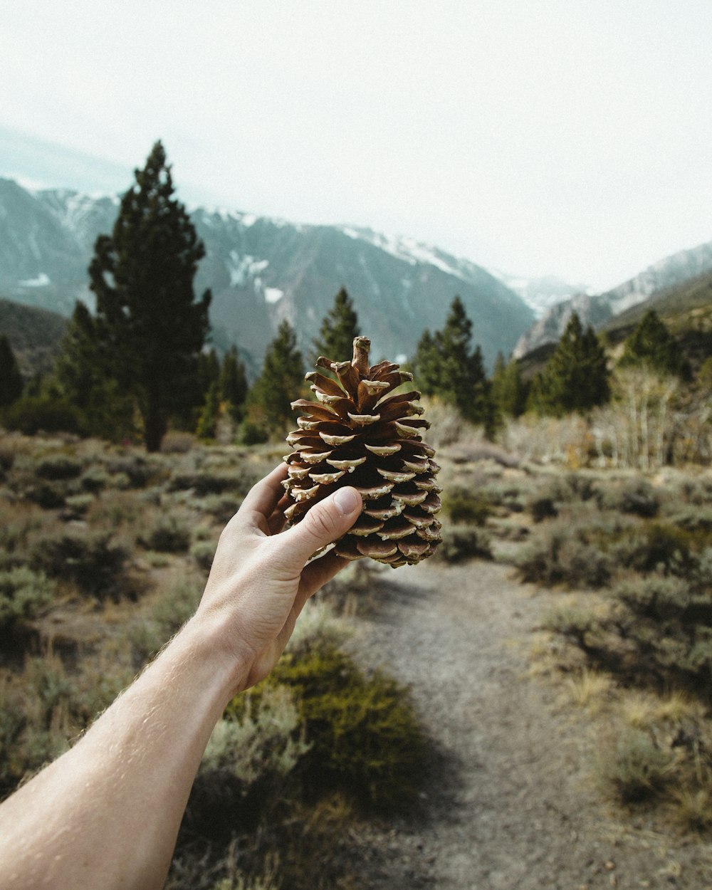
<path fill-rule="evenodd" d="M 190 617 L 224 523 L 281 453 L 0 439 L 0 796 Z M 227 708 L 166 886 L 354 886 L 353 826 L 412 805 L 425 740 L 408 691 L 340 648 L 335 616 L 367 606 L 370 587 L 363 565 L 331 582 L 271 678 Z"/>

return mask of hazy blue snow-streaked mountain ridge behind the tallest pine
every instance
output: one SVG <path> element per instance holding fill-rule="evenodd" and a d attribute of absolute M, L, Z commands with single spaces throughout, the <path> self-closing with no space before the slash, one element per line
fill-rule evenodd
<path fill-rule="evenodd" d="M 77 299 L 91 305 L 86 270 L 93 243 L 111 231 L 117 210 L 117 198 L 31 191 L 0 179 L 0 295 L 64 315 Z M 412 239 L 205 207 L 191 218 L 206 246 L 196 291 L 213 292 L 214 343 L 237 343 L 253 369 L 283 319 L 311 352 L 340 287 L 352 296 L 378 358 L 411 355 L 425 328 L 442 327 L 456 295 L 490 367 L 534 320 L 490 272 Z"/>

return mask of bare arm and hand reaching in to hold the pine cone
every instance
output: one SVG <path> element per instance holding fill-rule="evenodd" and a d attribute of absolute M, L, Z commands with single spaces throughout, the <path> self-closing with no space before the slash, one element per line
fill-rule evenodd
<path fill-rule="evenodd" d="M 338 490 L 283 530 L 285 465 L 223 530 L 195 615 L 66 754 L 0 805 L 0 890 L 160 890 L 200 758 L 228 701 L 269 674 L 304 603 L 346 561 Z"/>

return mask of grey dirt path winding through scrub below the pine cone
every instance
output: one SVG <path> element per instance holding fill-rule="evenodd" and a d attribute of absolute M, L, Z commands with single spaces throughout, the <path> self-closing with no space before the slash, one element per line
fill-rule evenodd
<path fill-rule="evenodd" d="M 440 751 L 423 820 L 381 838 L 364 887 L 405 890 L 712 890 L 712 848 L 631 827 L 591 783 L 593 733 L 527 674 L 551 595 L 493 562 L 384 574 L 354 641 L 364 663 L 410 684 Z M 585 726 L 585 721 L 583 722 Z"/>

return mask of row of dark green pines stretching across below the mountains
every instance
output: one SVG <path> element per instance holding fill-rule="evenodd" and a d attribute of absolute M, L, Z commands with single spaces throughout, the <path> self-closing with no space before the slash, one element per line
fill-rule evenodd
<path fill-rule="evenodd" d="M 293 421 L 290 404 L 309 396 L 303 374 L 319 355 L 349 360 L 360 331 L 345 288 L 303 355 L 293 328 L 282 321 L 261 374 L 248 386 L 236 347 L 209 349 L 211 294 L 198 298 L 193 280 L 205 247 L 184 206 L 174 198 L 171 168 L 160 142 L 125 193 L 111 235 L 101 235 L 89 266 L 96 312 L 84 303 L 61 341 L 52 370 L 23 381 L 16 356 L 0 336 L 0 419 L 23 433 L 67 431 L 110 441 L 142 439 L 157 450 L 167 430 L 200 439 L 254 444 L 282 436 Z M 493 437 L 507 417 L 531 412 L 561 417 L 586 413 L 615 399 L 617 376 L 639 368 L 674 377 L 686 392 L 708 392 L 712 359 L 693 375 L 673 336 L 654 310 L 643 315 L 617 360 L 576 313 L 546 365 L 525 374 L 500 353 L 485 373 L 473 324 L 455 296 L 441 330 L 425 330 L 411 360 L 418 389 L 457 407 Z"/>

